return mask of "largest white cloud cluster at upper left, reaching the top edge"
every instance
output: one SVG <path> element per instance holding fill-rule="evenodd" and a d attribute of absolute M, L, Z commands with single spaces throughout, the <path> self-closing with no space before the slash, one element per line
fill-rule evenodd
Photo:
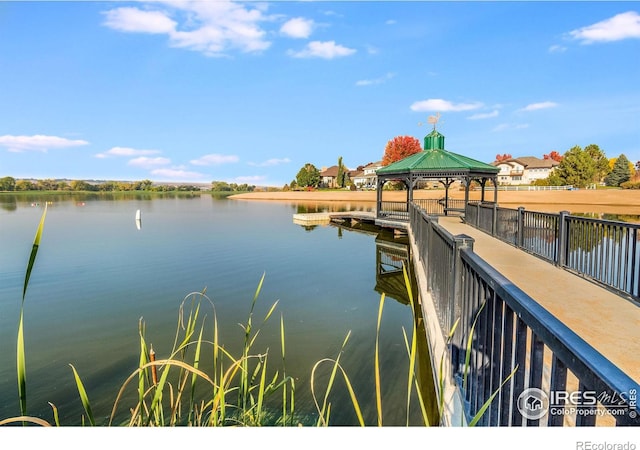
<path fill-rule="evenodd" d="M 104 25 L 130 33 L 166 34 L 172 47 L 223 56 L 231 49 L 259 52 L 269 48 L 260 23 L 264 7 L 234 1 L 147 2 L 153 10 L 135 7 L 105 12 Z M 174 20 L 175 19 L 175 20 Z M 178 22 L 181 20 L 181 22 Z"/>

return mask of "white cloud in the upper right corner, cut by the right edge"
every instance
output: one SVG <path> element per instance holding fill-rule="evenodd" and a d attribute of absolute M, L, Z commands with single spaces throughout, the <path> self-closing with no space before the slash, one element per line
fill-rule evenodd
<path fill-rule="evenodd" d="M 640 14 L 636 11 L 621 13 L 593 25 L 573 30 L 569 35 L 582 44 L 638 39 L 640 38 Z"/>

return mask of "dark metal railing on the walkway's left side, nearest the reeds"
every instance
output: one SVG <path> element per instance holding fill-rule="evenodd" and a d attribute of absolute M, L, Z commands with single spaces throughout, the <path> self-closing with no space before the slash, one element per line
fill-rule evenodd
<path fill-rule="evenodd" d="M 443 336 L 459 319 L 448 362 L 467 419 L 497 392 L 480 425 L 640 425 L 637 382 L 475 254 L 472 238 L 451 235 L 416 204 L 409 214 Z M 528 409 L 545 398 L 548 414 Z"/>

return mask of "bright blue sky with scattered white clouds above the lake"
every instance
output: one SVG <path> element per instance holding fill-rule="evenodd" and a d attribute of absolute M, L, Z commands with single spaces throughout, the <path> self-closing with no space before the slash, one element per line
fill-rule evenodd
<path fill-rule="evenodd" d="M 0 2 L 0 177 L 282 186 L 422 141 L 640 160 L 637 2 Z"/>

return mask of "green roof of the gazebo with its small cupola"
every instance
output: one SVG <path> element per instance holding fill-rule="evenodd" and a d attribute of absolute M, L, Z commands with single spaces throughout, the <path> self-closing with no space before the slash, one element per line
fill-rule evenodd
<path fill-rule="evenodd" d="M 433 130 L 424 138 L 424 150 L 378 169 L 378 175 L 407 172 L 482 172 L 497 174 L 500 169 L 444 149 L 444 136 Z"/>

